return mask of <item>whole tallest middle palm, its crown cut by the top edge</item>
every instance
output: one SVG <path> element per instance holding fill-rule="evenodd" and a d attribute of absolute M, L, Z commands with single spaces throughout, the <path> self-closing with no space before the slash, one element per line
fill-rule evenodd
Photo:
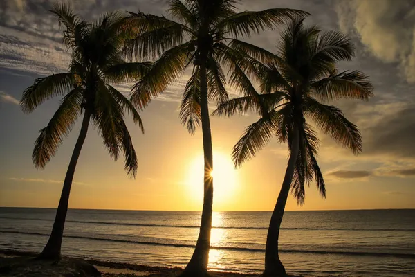
<path fill-rule="evenodd" d="M 237 84 L 242 73 L 241 53 L 226 42 L 275 28 L 286 19 L 308 15 L 300 10 L 269 9 L 237 13 L 239 0 L 170 0 L 169 14 L 177 21 L 141 12 L 130 13 L 125 24 L 138 34 L 127 42 L 125 53 L 130 58 L 159 59 L 149 73 L 132 89 L 133 105 L 146 107 L 152 97 L 162 93 L 188 66 L 192 76 L 187 82 L 180 107 L 183 125 L 193 134 L 201 125 L 203 134 L 204 199 L 199 238 L 184 276 L 207 274 L 210 230 L 212 226 L 213 180 L 212 134 L 208 110 L 209 100 L 228 100 L 225 74 L 231 73 L 230 84 Z"/>

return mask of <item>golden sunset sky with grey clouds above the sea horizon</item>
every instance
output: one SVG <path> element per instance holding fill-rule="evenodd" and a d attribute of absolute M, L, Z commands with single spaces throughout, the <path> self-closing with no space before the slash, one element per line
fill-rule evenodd
<path fill-rule="evenodd" d="M 22 91 L 35 78 L 64 72 L 68 53 L 57 21 L 46 11 L 52 0 L 2 0 L 0 3 L 0 206 L 56 207 L 62 180 L 79 134 L 78 124 L 44 170 L 31 154 L 39 129 L 48 124 L 59 98 L 25 115 Z M 91 19 L 102 12 L 130 10 L 162 14 L 167 0 L 71 1 L 75 12 Z M 307 24 L 340 29 L 356 44 L 356 59 L 340 69 L 360 69 L 371 77 L 375 97 L 369 102 L 339 101 L 362 132 L 364 153 L 354 156 L 320 134 L 318 161 L 324 172 L 327 199 L 314 185 L 306 204 L 289 197 L 287 210 L 415 208 L 415 5 L 412 0 L 246 0 L 240 10 L 299 8 L 311 12 Z M 275 50 L 278 31 L 250 42 Z M 131 210 L 200 210 L 202 193 L 201 129 L 187 133 L 178 105 L 187 80 L 181 80 L 141 112 L 145 135 L 129 120 L 138 152 L 135 180 L 114 162 L 102 139 L 89 129 L 77 163 L 70 208 Z M 122 87 L 128 93 L 130 85 Z M 238 91 L 229 90 L 232 97 Z M 212 110 L 214 105 L 212 105 Z M 230 153 L 255 115 L 212 117 L 214 209 L 272 210 L 286 168 L 287 147 L 276 140 L 234 170 Z M 78 121 L 80 123 L 80 120 Z"/>

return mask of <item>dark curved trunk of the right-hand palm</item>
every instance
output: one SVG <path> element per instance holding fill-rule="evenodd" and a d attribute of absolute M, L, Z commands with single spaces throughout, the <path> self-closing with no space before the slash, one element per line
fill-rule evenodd
<path fill-rule="evenodd" d="M 279 260 L 278 238 L 279 228 L 281 226 L 282 217 L 284 216 L 288 194 L 290 193 L 291 181 L 293 180 L 295 163 L 297 162 L 298 154 L 299 130 L 294 129 L 291 156 L 290 159 L 288 159 L 286 174 L 284 176 L 284 181 L 282 182 L 281 190 L 279 191 L 277 204 L 275 204 L 273 215 L 271 216 L 268 235 L 266 237 L 264 277 L 286 276 L 284 265 L 282 265 L 281 260 Z"/>

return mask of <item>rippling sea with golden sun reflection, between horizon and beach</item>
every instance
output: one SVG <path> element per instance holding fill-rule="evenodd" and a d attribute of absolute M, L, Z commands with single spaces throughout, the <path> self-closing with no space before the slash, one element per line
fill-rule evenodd
<path fill-rule="evenodd" d="M 184 267 L 199 212 L 70 210 L 63 254 Z M 0 248 L 41 251 L 55 211 L 0 208 Z M 269 212 L 216 212 L 210 269 L 259 273 Z M 286 212 L 281 258 L 300 276 L 415 276 L 415 210 Z"/>

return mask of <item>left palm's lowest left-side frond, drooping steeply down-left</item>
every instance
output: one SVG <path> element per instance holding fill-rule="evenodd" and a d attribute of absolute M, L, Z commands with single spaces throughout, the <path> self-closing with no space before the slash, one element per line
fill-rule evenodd
<path fill-rule="evenodd" d="M 71 132 L 81 114 L 82 91 L 73 89 L 62 99 L 59 108 L 48 125 L 40 130 L 35 142 L 32 159 L 37 168 L 44 168 L 50 158 L 55 156 L 63 139 Z"/>

